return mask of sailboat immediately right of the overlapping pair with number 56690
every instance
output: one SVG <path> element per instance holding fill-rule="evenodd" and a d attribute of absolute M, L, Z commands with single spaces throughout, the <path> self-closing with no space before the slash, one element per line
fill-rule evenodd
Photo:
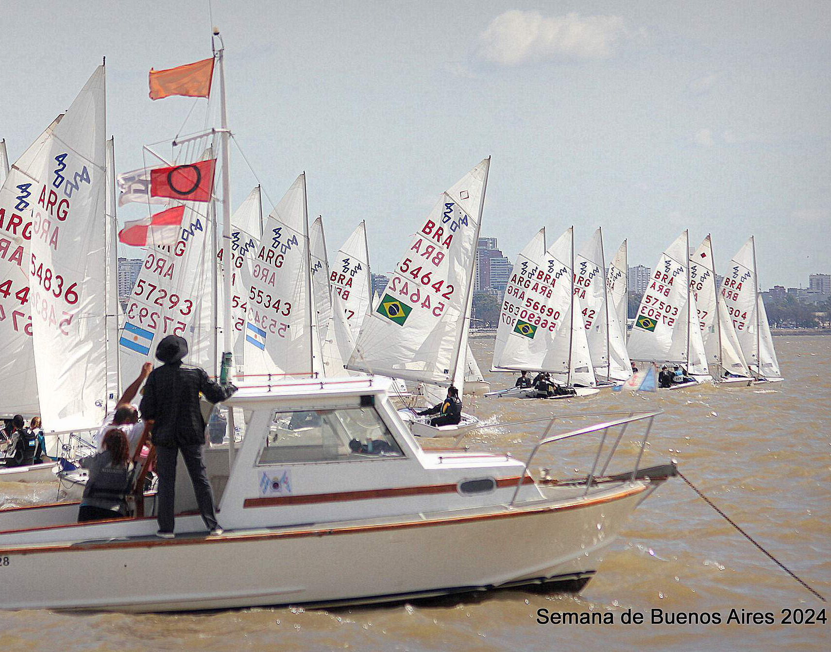
<path fill-rule="evenodd" d="M 605 376 L 611 385 L 632 375 L 632 361 L 626 348 L 626 326 L 612 304 L 604 269 L 603 237 L 598 227 L 575 259 L 574 290 L 586 324 L 595 376 Z"/>

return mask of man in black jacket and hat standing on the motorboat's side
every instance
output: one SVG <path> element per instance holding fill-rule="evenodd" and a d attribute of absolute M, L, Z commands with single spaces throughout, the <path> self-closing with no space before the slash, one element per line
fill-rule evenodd
<path fill-rule="evenodd" d="M 145 396 L 139 409 L 145 421 L 153 422 L 156 448 L 156 473 L 159 474 L 159 531 L 156 536 L 172 539 L 173 504 L 176 482 L 176 457 L 182 453 L 193 482 L 199 512 L 211 534 L 222 534 L 214 513 L 214 492 L 202 462 L 205 422 L 199 408 L 199 393 L 210 403 L 219 403 L 237 391 L 234 385 L 214 383 L 204 369 L 184 367 L 188 343 L 178 335 L 168 335 L 156 347 L 162 363 L 145 383 Z"/>

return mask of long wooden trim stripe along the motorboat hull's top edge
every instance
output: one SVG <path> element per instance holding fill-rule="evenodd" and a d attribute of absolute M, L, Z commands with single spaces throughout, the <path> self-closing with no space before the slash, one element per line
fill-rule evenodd
<path fill-rule="evenodd" d="M 221 543 L 243 543 L 248 541 L 268 541 L 272 539 L 295 539 L 306 536 L 336 536 L 347 534 L 360 534 L 363 532 L 376 532 L 386 530 L 407 530 L 414 527 L 435 527 L 470 523 L 474 521 L 489 521 L 502 518 L 519 518 L 520 516 L 538 516 L 547 512 L 570 511 L 582 509 L 595 505 L 602 505 L 607 502 L 619 501 L 630 496 L 647 491 L 651 484 L 642 484 L 635 487 L 628 487 L 617 491 L 610 496 L 597 496 L 596 498 L 578 499 L 565 505 L 548 505 L 528 509 L 513 509 L 510 511 L 499 511 L 490 514 L 475 514 L 470 516 L 448 516 L 446 518 L 429 521 L 399 521 L 395 523 L 381 523 L 366 526 L 342 526 L 296 531 L 261 532 L 258 534 L 226 534 L 222 536 L 204 536 L 196 538 L 187 536 L 181 539 L 156 539 L 143 538 L 141 541 L 108 541 L 101 543 L 61 543 L 56 545 L 37 546 L 37 544 L 26 548 L 0 549 L 0 555 L 39 555 L 51 552 L 84 552 L 96 550 L 116 550 L 121 548 L 154 548 L 157 546 L 202 546 L 205 544 Z"/>

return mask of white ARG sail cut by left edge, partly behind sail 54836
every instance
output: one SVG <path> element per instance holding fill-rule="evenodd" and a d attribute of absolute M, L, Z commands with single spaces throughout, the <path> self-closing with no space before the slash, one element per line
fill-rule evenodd
<path fill-rule="evenodd" d="M 37 202 L 33 169 L 61 117 L 23 152 L 0 188 L 0 378 L 14 378 L 0 392 L 3 414 L 40 412 L 29 302 L 31 259 L 24 252 L 32 233 L 32 205 Z"/>

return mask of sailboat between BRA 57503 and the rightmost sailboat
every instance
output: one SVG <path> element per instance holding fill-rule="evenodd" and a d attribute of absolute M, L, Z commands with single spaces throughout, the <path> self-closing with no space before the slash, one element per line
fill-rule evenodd
<path fill-rule="evenodd" d="M 715 283 L 715 261 L 711 236 L 690 257 L 690 289 L 696 297 L 704 350 L 716 383 L 748 383 L 750 369 L 741 353 L 739 338 L 727 312 L 724 297 Z M 721 373 L 719 369 L 724 369 Z"/>

